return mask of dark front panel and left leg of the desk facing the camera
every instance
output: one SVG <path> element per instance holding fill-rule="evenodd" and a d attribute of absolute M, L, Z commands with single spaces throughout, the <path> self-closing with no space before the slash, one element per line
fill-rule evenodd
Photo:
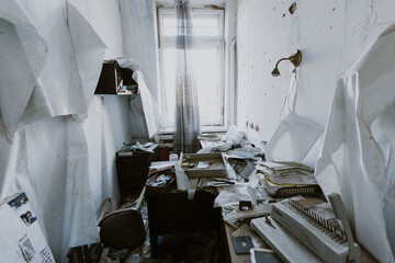
<path fill-rule="evenodd" d="M 221 208 L 213 208 L 215 194 L 196 191 L 192 201 L 176 187 L 166 193 L 146 193 L 149 239 L 153 256 L 158 255 L 158 237 L 163 235 L 217 230 L 221 237 Z"/>

